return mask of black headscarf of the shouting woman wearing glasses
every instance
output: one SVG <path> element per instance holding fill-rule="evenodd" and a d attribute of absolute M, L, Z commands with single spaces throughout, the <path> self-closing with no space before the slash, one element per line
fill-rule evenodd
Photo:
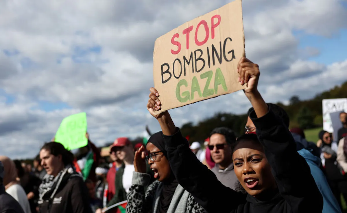
<path fill-rule="evenodd" d="M 160 151 L 163 152 L 164 156 L 168 158 L 168 152 L 165 149 L 165 141 L 162 132 L 157 132 L 153 134 L 148 143 L 155 145 Z M 162 191 L 159 198 L 158 212 L 166 213 L 169 209 L 172 197 L 175 194 L 176 188 L 178 186 L 178 181 L 176 180 L 174 174 L 171 171 L 170 177 L 163 181 Z"/>

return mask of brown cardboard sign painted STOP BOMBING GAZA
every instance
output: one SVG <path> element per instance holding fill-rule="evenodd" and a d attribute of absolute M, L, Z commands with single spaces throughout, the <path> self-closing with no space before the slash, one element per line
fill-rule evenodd
<path fill-rule="evenodd" d="M 157 38 L 153 78 L 159 112 L 244 89 L 237 81 L 237 63 L 244 55 L 241 0 Z"/>

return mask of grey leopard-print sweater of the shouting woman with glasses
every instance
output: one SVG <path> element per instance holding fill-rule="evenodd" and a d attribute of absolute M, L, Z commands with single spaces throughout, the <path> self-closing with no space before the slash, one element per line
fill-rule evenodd
<path fill-rule="evenodd" d="M 134 171 L 132 186 L 127 194 L 127 213 L 156 213 L 159 197 L 161 194 L 162 183 L 154 181 L 146 190 L 145 186 L 150 181 L 150 175 Z M 206 213 L 184 188 L 177 186 L 167 213 Z"/>

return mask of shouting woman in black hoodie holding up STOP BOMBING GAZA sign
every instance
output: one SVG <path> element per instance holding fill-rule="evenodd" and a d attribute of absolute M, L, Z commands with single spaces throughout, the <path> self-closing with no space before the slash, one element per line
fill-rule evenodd
<path fill-rule="evenodd" d="M 254 108 L 249 117 L 256 127 L 256 134 L 239 137 L 232 151 L 235 174 L 247 194 L 222 185 L 194 158 L 168 111 L 158 113 L 161 96 L 155 88 L 150 89 L 147 110 L 161 126 L 179 184 L 208 212 L 322 212 L 322 195 L 305 159 L 296 151 L 293 136 L 257 90 L 259 66 L 242 58 L 238 73 L 240 84 L 247 83 L 244 92 Z"/>

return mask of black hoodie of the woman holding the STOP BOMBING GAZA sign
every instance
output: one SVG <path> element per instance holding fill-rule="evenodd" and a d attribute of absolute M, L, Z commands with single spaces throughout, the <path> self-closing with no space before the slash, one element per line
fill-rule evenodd
<path fill-rule="evenodd" d="M 259 201 L 222 185 L 213 172 L 195 157 L 187 140 L 178 131 L 164 138 L 170 166 L 179 184 L 211 213 L 322 212 L 322 195 L 305 159 L 296 151 L 288 128 L 271 108 L 261 118 L 256 118 L 254 111 L 250 117 L 272 168 L 278 193 L 266 201 Z"/>

